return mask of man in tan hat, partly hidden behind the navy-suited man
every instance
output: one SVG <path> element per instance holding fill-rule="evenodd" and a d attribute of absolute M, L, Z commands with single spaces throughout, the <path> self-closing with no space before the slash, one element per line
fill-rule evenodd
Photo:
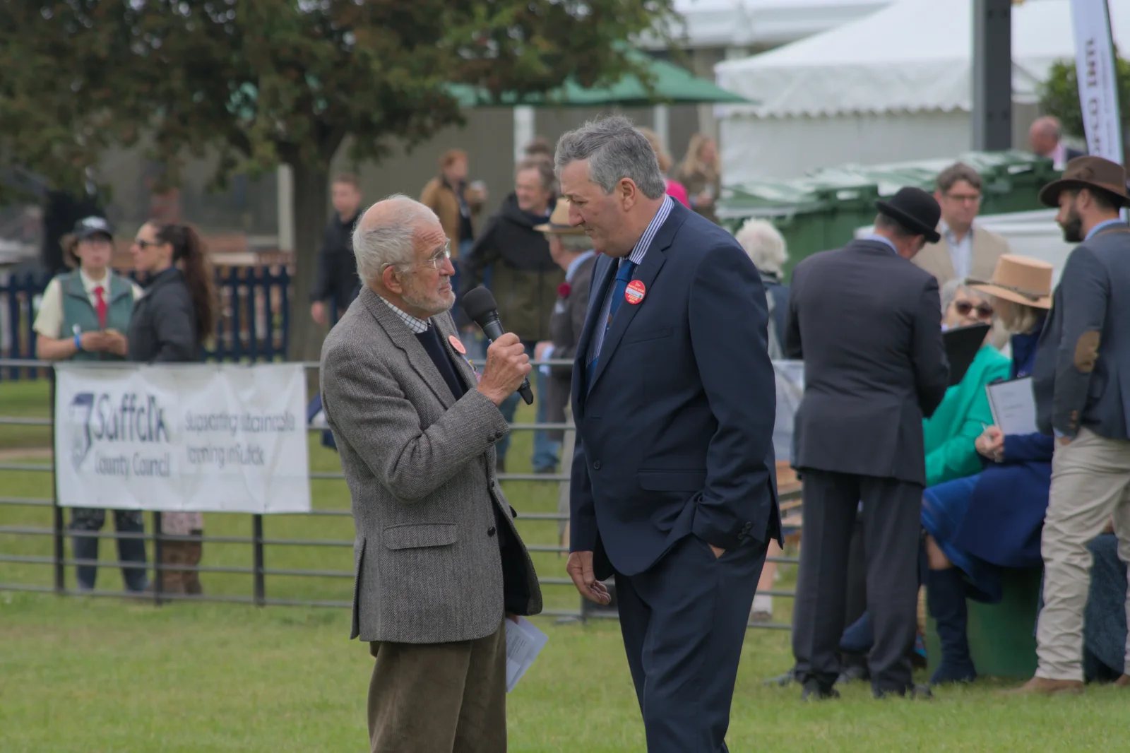
<path fill-rule="evenodd" d="M 568 201 L 557 199 L 557 206 L 549 216 L 549 222 L 533 230 L 541 231 L 549 240 L 549 256 L 554 262 L 565 270 L 565 282 L 557 287 L 557 302 L 549 315 L 549 335 L 553 339 L 538 343 L 534 348 L 534 361 L 572 361 L 576 356 L 576 344 L 581 340 L 584 329 L 584 315 L 589 310 L 589 288 L 592 286 L 592 267 L 597 262 L 597 252 L 592 242 L 585 235 L 584 228 L 568 224 Z M 567 366 L 540 366 L 546 380 L 546 421 L 551 424 L 572 423 L 573 412 L 568 400 L 573 393 L 573 364 Z M 562 468 L 567 474 L 573 467 L 573 445 L 576 432 L 551 430 L 546 436 L 553 442 L 564 440 L 562 451 Z M 557 512 L 568 514 L 570 483 L 562 482 L 557 500 Z M 568 540 L 568 521 L 560 521 L 558 535 L 562 542 Z"/>

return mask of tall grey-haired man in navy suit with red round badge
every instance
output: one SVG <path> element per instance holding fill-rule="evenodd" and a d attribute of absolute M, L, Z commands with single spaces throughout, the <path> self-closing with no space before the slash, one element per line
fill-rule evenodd
<path fill-rule="evenodd" d="M 620 629 L 651 753 L 724 752 L 749 607 L 781 538 L 765 291 L 664 196 L 626 118 L 562 137 L 570 224 L 601 254 L 573 371 L 568 573 Z"/>

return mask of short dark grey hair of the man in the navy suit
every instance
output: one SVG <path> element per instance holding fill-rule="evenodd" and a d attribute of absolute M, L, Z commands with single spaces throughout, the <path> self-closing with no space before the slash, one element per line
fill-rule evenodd
<path fill-rule="evenodd" d="M 627 178 L 649 199 L 667 192 L 655 150 L 632 121 L 623 115 L 590 120 L 557 141 L 554 162 L 557 178 L 572 162 L 589 161 L 589 180 L 611 193 Z"/>

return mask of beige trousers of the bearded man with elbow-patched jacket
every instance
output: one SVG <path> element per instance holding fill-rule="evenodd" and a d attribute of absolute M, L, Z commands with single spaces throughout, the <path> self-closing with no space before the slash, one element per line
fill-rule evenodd
<path fill-rule="evenodd" d="M 1052 457 L 1041 540 L 1044 608 L 1036 629 L 1037 677 L 1083 680 L 1083 613 L 1092 565 L 1087 544 L 1112 516 L 1119 559 L 1130 562 L 1130 442 L 1084 429 L 1070 444 L 1057 444 Z M 1130 598 L 1125 608 L 1130 617 Z"/>

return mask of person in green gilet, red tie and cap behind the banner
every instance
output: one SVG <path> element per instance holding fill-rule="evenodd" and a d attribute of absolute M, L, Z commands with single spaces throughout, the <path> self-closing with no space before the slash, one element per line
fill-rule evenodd
<path fill-rule="evenodd" d="M 110 268 L 114 252 L 113 228 L 102 217 L 87 217 L 64 236 L 63 259 L 72 271 L 55 276 L 43 292 L 33 329 L 37 335 L 35 354 L 44 361 L 125 361 L 123 332 L 130 324 L 133 301 L 141 288 Z M 98 560 L 98 538 L 106 521 L 105 510 L 73 508 L 75 559 L 80 591 L 94 590 Z M 141 534 L 145 522 L 140 510 L 114 510 L 119 534 Z M 148 586 L 145 540 L 119 538 L 118 559 L 128 591 L 140 592 Z"/>

